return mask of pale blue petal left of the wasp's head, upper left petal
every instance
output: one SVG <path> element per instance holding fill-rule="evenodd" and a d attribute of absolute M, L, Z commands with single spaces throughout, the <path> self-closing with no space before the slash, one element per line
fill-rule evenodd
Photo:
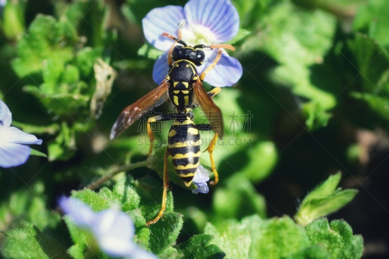
<path fill-rule="evenodd" d="M 167 51 L 175 42 L 161 35 L 169 33 L 177 36 L 177 25 L 182 19 L 184 14 L 181 6 L 168 5 L 154 8 L 142 19 L 144 36 L 157 49 Z"/>

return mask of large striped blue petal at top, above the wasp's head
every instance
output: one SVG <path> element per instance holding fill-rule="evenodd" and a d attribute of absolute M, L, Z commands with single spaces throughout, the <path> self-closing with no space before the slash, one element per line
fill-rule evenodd
<path fill-rule="evenodd" d="M 185 4 L 184 14 L 188 25 L 209 28 L 218 42 L 232 39 L 239 31 L 238 11 L 230 0 L 190 0 Z"/>

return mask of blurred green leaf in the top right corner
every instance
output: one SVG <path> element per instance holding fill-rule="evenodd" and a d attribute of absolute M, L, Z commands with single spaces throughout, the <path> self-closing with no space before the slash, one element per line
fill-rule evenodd
<path fill-rule="evenodd" d="M 369 0 L 367 4 L 361 5 L 354 19 L 354 31 L 367 33 L 381 46 L 387 46 L 389 44 L 388 9 L 389 2 L 386 0 Z"/>

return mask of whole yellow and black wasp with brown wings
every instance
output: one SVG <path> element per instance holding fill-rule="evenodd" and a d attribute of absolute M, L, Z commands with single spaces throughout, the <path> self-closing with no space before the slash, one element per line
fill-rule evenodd
<path fill-rule="evenodd" d="M 200 66 L 205 59 L 205 53 L 201 49 L 235 50 L 233 46 L 228 44 L 201 44 L 191 47 L 181 39 L 170 34 L 163 33 L 162 36 L 175 40 L 179 44 L 176 46 L 173 45 L 169 51 L 168 64 L 170 70 L 168 74 L 156 89 L 143 96 L 134 104 L 127 106 L 122 111 L 113 124 L 110 133 L 110 139 L 116 138 L 144 113 L 167 100 L 175 108 L 175 113 L 173 114 L 150 117 L 147 120 L 147 134 L 151 140 L 148 156 L 151 155 L 153 150 L 152 143 L 154 139 L 150 123 L 174 120 L 168 133 L 168 147 L 164 155 L 162 206 L 156 218 L 146 223 L 147 226 L 156 223 L 165 211 L 166 193 L 169 188 L 167 170 L 167 158 L 169 155 L 172 158 L 177 174 L 180 176 L 185 186 L 189 187 L 192 184 L 193 177 L 197 172 L 201 153 L 199 130 L 215 131 L 215 135 L 206 151 L 210 154 L 211 168 L 214 174 L 214 181 L 210 182 L 210 185 L 215 185 L 219 180 L 212 152 L 217 138 L 223 137 L 223 123 L 220 119 L 220 121 L 216 121 L 214 116 L 212 117 L 211 115 L 213 113 L 221 116 L 220 109 L 212 101 L 213 96 L 220 91 L 220 88 L 213 88 L 207 93 L 202 86 L 202 81 L 206 74 L 210 72 L 220 60 L 222 50 L 218 51 L 212 64 L 205 69 L 201 75 L 197 73 L 196 66 Z M 192 108 L 197 106 L 201 106 L 203 111 L 206 112 L 206 117 L 210 124 L 195 125 Z"/>

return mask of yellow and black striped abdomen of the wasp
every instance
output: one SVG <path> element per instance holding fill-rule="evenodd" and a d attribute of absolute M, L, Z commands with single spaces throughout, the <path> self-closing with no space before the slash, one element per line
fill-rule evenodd
<path fill-rule="evenodd" d="M 168 148 L 176 172 L 189 187 L 200 161 L 200 135 L 195 123 L 186 119 L 173 122 L 168 135 Z"/>

